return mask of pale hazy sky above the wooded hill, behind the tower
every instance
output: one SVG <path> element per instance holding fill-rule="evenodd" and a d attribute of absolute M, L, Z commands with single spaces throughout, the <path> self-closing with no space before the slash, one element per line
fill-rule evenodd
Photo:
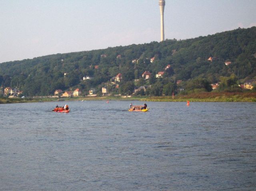
<path fill-rule="evenodd" d="M 256 26 L 256 0 L 166 0 L 165 39 Z M 0 63 L 160 41 L 158 0 L 0 0 Z"/>

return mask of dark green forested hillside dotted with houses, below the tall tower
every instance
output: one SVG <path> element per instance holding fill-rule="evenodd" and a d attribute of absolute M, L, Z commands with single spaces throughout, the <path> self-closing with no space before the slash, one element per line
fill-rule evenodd
<path fill-rule="evenodd" d="M 212 57 L 212 61 L 208 61 L 209 57 Z M 256 77 L 255 57 L 256 27 L 238 28 L 194 39 L 167 39 L 160 43 L 132 44 L 5 62 L 0 64 L 0 84 L 2 87 L 18 87 L 30 96 L 52 95 L 56 89 L 80 88 L 88 92 L 94 88 L 100 91 L 112 77 L 121 73 L 120 88 L 124 90 L 127 85 L 134 88 L 134 79 L 140 79 L 144 71 L 150 71 L 155 76 L 159 71 L 164 71 L 167 65 L 171 69 L 165 73 L 165 79 L 141 79 L 140 85 L 161 83 L 164 86 L 198 77 L 217 83 L 221 76 L 232 74 L 243 82 Z M 226 61 L 232 63 L 227 66 Z M 93 78 L 83 81 L 86 76 Z M 110 91 L 116 90 L 113 88 Z"/>

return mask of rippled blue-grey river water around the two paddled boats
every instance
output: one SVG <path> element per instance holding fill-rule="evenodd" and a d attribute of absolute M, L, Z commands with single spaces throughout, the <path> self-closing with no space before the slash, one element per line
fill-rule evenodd
<path fill-rule="evenodd" d="M 1 104 L 0 190 L 256 190 L 255 103 L 129 104 Z"/>

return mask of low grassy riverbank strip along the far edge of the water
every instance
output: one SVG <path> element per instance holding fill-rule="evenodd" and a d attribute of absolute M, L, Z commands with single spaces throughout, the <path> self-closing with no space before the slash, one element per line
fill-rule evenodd
<path fill-rule="evenodd" d="M 26 102 L 50 102 L 57 101 L 57 98 L 0 98 L 0 104 L 4 103 L 26 103 Z M 174 101 L 174 102 L 256 102 L 256 93 L 216 93 L 204 92 L 189 95 L 174 96 L 132 96 L 124 98 L 121 96 L 99 96 L 99 97 L 72 97 L 63 98 L 64 101 L 80 100 L 139 100 L 139 101 Z"/>

